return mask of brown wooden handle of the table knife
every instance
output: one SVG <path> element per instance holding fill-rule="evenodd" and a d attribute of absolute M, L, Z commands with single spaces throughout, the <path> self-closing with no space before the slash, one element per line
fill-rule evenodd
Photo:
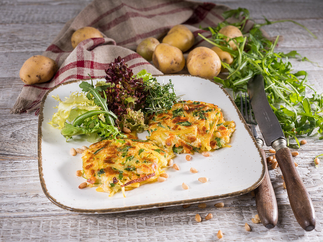
<path fill-rule="evenodd" d="M 315 210 L 312 200 L 300 179 L 289 148 L 276 151 L 276 160 L 284 176 L 290 206 L 299 225 L 306 231 L 315 228 Z"/>

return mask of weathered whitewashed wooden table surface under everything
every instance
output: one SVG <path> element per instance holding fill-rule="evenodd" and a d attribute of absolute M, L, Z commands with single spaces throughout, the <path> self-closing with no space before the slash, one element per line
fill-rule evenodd
<path fill-rule="evenodd" d="M 304 231 L 293 216 L 280 169 L 269 173 L 278 203 L 278 224 L 268 230 L 254 224 L 255 198 L 250 194 L 220 200 L 223 208 L 208 202 L 188 208 L 166 207 L 107 215 L 82 215 L 63 210 L 44 195 L 38 176 L 37 122 L 34 113 L 10 114 L 10 108 L 23 86 L 19 69 L 32 55 L 40 55 L 63 25 L 75 17 L 89 0 L 1 0 L 0 1 L 0 241 L 323 241 L 323 168 L 313 160 L 323 153 L 318 136 L 305 137 L 307 144 L 295 158 L 297 170 L 316 210 L 315 230 Z M 214 1 L 215 2 L 215 1 Z M 292 24 L 265 27 L 269 35 L 283 35 L 279 50 L 296 49 L 310 60 L 323 62 L 323 1 L 245 0 L 216 1 L 232 8 L 249 9 L 256 21 L 265 15 L 270 20 L 293 19 L 306 25 L 318 39 Z M 309 62 L 291 60 L 295 70 L 306 70 L 309 82 L 323 91 L 323 68 Z M 293 141 L 295 143 L 295 141 Z M 268 148 L 266 148 L 268 152 Z M 243 166 L 243 163 L 241 163 Z M 313 187 L 315 186 L 315 187 Z M 218 202 L 220 202 L 218 201 Z M 208 213 L 213 219 L 195 221 L 195 214 Z M 245 222 L 252 231 L 245 231 Z"/>

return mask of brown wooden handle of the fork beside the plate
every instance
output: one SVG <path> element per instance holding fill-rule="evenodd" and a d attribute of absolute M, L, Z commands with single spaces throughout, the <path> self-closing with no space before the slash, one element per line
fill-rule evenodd
<path fill-rule="evenodd" d="M 261 154 L 266 160 L 265 151 L 262 148 L 259 148 Z M 267 164 L 266 164 L 265 178 L 262 183 L 255 189 L 255 199 L 258 216 L 262 224 L 266 228 L 273 228 L 277 224 L 278 220 L 278 208 L 277 201 L 273 186 L 270 181 Z"/>

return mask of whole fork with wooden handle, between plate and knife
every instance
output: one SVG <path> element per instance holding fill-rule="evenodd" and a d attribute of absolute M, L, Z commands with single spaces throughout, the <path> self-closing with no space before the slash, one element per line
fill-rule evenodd
<path fill-rule="evenodd" d="M 247 99 L 247 94 L 245 93 L 245 109 L 243 108 L 243 99 L 242 94 L 240 94 L 240 111 L 242 116 L 245 119 L 245 122 L 248 124 L 251 133 L 253 134 L 261 155 L 264 160 L 266 160 L 266 154 L 263 150 L 262 146 L 264 145 L 264 141 L 260 139 L 257 135 L 257 131 L 255 126 L 257 122 L 252 116 L 252 109 L 250 104 L 250 99 Z M 249 105 L 247 105 L 247 102 Z M 256 208 L 258 212 L 258 216 L 262 222 L 262 224 L 270 229 L 276 226 L 278 220 L 278 208 L 277 201 L 273 186 L 270 181 L 267 164 L 265 165 L 265 177 L 262 183 L 255 189 L 255 200 L 256 200 Z"/>

